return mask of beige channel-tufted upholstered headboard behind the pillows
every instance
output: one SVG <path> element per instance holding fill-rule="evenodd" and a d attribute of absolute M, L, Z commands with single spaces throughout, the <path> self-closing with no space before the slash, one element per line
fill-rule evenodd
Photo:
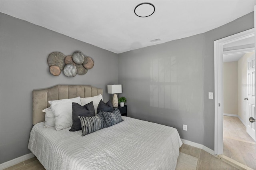
<path fill-rule="evenodd" d="M 93 97 L 103 95 L 103 90 L 89 85 L 56 85 L 48 89 L 33 90 L 32 92 L 32 123 L 44 121 L 42 110 L 50 107 L 48 101 L 70 99 L 74 97 Z"/>

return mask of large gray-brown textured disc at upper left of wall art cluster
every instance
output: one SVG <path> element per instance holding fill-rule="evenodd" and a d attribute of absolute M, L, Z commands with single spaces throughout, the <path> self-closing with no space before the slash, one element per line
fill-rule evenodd
<path fill-rule="evenodd" d="M 64 62 L 65 57 L 66 56 L 61 52 L 52 52 L 48 56 L 47 63 L 49 66 L 56 65 L 60 67 L 60 70 L 63 70 L 65 66 L 65 62 Z"/>

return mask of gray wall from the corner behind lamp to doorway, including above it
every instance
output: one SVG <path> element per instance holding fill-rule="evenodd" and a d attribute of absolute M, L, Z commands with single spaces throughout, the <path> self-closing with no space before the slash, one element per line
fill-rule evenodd
<path fill-rule="evenodd" d="M 251 28 L 253 12 L 204 34 L 119 54 L 128 116 L 175 127 L 181 138 L 214 150 L 214 41 Z"/>

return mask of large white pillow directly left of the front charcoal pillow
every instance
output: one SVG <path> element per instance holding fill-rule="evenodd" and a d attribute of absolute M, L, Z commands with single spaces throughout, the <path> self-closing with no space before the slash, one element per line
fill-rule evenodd
<path fill-rule="evenodd" d="M 72 103 L 81 105 L 80 97 L 49 101 L 55 116 L 54 123 L 57 131 L 72 126 Z"/>

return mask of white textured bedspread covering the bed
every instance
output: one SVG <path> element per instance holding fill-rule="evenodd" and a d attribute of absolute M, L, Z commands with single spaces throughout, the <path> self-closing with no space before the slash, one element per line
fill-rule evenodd
<path fill-rule="evenodd" d="M 175 170 L 182 145 L 176 128 L 122 117 L 86 136 L 34 125 L 28 148 L 46 170 Z"/>

